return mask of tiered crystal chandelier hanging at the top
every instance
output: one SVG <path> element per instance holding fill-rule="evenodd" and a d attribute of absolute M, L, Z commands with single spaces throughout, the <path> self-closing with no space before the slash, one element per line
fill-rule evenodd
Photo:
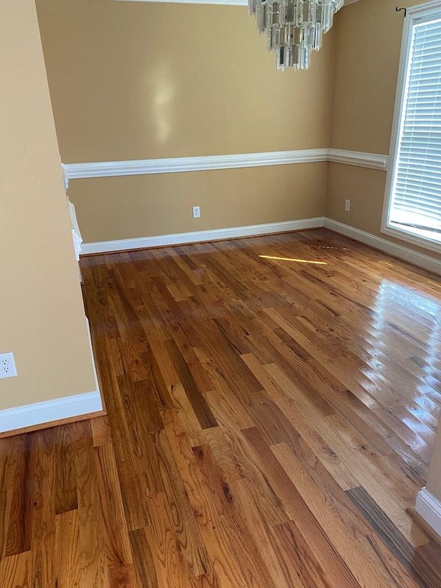
<path fill-rule="evenodd" d="M 265 32 L 268 50 L 277 54 L 277 69 L 307 70 L 311 51 L 322 46 L 334 14 L 344 0 L 248 0 L 259 32 Z"/>

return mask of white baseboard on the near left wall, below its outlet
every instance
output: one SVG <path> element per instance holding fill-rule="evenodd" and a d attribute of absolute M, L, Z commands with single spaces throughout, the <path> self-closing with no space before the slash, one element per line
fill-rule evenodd
<path fill-rule="evenodd" d="M 43 425 L 44 423 L 54 422 L 55 425 L 57 420 L 83 416 L 102 410 L 103 403 L 101 403 L 99 390 L 16 408 L 7 408 L 0 410 L 0 433 Z"/>

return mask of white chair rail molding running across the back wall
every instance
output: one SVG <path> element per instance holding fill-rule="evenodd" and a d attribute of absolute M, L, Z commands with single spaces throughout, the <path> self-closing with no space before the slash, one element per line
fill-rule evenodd
<path fill-rule="evenodd" d="M 77 178 L 139 176 L 145 174 L 174 174 L 203 172 L 232 168 L 258 168 L 263 165 L 289 165 L 328 161 L 327 149 L 303 149 L 233 155 L 200 157 L 168 157 L 167 159 L 134 159 L 131 161 L 96 161 L 94 163 L 62 163 L 67 182 Z"/>

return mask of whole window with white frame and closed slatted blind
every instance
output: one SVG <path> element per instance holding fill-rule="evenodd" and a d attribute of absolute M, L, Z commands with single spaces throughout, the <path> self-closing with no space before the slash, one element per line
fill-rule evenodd
<path fill-rule="evenodd" d="M 384 199 L 383 232 L 441 250 L 441 1 L 410 8 Z"/>

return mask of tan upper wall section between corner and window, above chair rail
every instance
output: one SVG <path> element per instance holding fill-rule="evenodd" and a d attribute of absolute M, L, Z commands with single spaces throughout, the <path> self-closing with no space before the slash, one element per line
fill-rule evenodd
<path fill-rule="evenodd" d="M 389 153 L 403 24 L 395 8 L 360 0 L 338 15 L 331 148 Z"/>

